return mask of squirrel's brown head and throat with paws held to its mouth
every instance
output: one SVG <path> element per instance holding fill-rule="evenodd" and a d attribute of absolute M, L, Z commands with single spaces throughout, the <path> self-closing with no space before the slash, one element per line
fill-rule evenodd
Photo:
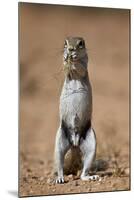
<path fill-rule="evenodd" d="M 87 74 L 88 55 L 82 37 L 67 37 L 64 41 L 64 72 L 70 79 L 80 79 Z"/>

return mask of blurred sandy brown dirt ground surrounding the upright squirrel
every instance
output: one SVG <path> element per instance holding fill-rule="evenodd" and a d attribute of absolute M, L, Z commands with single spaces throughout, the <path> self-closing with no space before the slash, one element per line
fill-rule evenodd
<path fill-rule="evenodd" d="M 19 4 L 19 195 L 54 195 L 130 189 L 129 11 Z M 59 96 L 64 80 L 63 41 L 85 38 L 93 88 L 93 127 L 101 181 L 65 176 L 52 182 Z"/>

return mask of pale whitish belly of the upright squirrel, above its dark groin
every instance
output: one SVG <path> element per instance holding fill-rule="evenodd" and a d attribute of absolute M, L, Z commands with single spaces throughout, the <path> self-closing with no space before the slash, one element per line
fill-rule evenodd
<path fill-rule="evenodd" d="M 78 85 L 78 84 L 77 84 Z M 92 114 L 92 94 L 89 88 L 86 90 L 63 91 L 60 98 L 60 117 L 70 125 L 74 116 L 78 116 L 80 126 L 91 119 Z"/>

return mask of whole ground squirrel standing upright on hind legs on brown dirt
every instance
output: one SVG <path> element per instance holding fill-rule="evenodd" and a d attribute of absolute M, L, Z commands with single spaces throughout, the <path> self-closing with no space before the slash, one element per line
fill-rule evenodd
<path fill-rule="evenodd" d="M 97 180 L 98 175 L 88 174 L 95 158 L 96 137 L 91 127 L 92 89 L 83 38 L 65 39 L 63 64 L 65 81 L 60 97 L 60 126 L 55 142 L 56 183 L 64 183 L 63 171 L 68 152 L 71 155 L 70 171 L 73 165 L 79 166 L 82 168 L 82 180 Z"/>

